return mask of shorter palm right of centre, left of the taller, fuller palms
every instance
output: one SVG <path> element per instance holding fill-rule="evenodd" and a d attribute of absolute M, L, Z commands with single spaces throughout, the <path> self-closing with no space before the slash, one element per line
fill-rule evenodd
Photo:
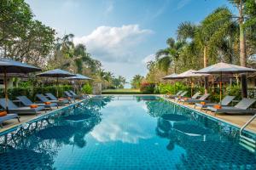
<path fill-rule="evenodd" d="M 183 49 L 185 42 L 175 42 L 175 40 L 171 37 L 167 39 L 166 43 L 168 44 L 168 48 L 160 49 L 155 54 L 157 64 L 162 71 L 166 71 L 167 73 L 170 65 L 173 63 L 174 72 L 176 72 L 176 61 Z"/>

